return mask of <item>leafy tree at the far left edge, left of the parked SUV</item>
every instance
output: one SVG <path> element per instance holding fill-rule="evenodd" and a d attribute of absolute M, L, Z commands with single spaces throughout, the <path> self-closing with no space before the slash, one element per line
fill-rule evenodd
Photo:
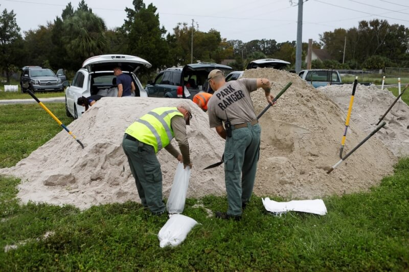
<path fill-rule="evenodd" d="M 16 54 L 21 43 L 20 28 L 17 26 L 14 11 L 3 10 L 0 15 L 0 67 L 6 71 L 7 83 L 10 82 L 12 64 L 18 63 Z"/>

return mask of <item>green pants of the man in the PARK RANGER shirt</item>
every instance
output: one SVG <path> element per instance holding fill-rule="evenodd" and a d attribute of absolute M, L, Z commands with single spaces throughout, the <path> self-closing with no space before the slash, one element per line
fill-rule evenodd
<path fill-rule="evenodd" d="M 261 127 L 258 123 L 235 129 L 224 147 L 224 179 L 229 202 L 228 215 L 241 215 L 242 203 L 253 193 L 260 153 Z"/>

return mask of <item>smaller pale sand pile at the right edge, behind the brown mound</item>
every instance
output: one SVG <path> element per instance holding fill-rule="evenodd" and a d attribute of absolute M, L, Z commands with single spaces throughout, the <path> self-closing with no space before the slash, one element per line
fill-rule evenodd
<path fill-rule="evenodd" d="M 348 112 L 353 85 L 332 85 L 318 90 L 330 97 L 344 112 Z M 388 89 L 381 90 L 375 85 L 356 86 L 351 119 L 363 131 L 370 133 L 389 109 L 396 97 Z M 375 134 L 398 157 L 409 156 L 409 106 L 398 100 L 383 118 L 386 129 Z"/>

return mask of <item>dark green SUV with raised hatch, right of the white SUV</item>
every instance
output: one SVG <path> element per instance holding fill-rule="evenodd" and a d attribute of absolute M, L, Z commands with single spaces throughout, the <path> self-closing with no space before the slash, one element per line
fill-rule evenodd
<path fill-rule="evenodd" d="M 158 73 L 153 82 L 148 81 L 145 90 L 149 97 L 193 99 L 199 91 L 208 91 L 207 79 L 213 69 L 220 69 L 225 74 L 233 70 L 230 66 L 216 63 L 194 63 L 185 67 L 168 68 Z"/>

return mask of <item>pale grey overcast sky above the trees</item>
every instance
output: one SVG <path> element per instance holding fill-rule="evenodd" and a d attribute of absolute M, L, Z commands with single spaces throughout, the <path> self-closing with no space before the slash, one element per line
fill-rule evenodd
<path fill-rule="evenodd" d="M 71 2 L 74 9 L 80 0 L 0 0 L 0 11 L 16 14 L 21 34 L 61 17 Z M 126 18 L 125 7 L 133 8 L 132 0 L 86 0 L 108 29 L 120 27 Z M 216 29 L 222 38 L 248 42 L 275 39 L 277 42 L 297 40 L 298 0 L 144 0 L 157 8 L 161 26 L 173 33 L 178 22 L 192 24 L 208 32 Z M 390 24 L 409 27 L 408 0 L 304 0 L 303 42 L 319 41 L 320 34 L 336 28 L 358 26 L 360 20 L 375 18 Z"/>

